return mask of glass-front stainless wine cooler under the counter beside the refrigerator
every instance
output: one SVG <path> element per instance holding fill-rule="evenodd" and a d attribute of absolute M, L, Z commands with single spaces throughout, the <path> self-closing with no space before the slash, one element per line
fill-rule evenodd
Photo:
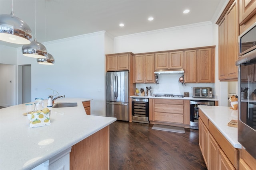
<path fill-rule="evenodd" d="M 132 121 L 149 123 L 148 98 L 132 98 Z"/>

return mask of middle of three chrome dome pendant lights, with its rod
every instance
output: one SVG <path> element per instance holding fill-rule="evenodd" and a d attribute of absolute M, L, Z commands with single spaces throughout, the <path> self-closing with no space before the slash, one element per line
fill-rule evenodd
<path fill-rule="evenodd" d="M 47 56 L 46 47 L 36 41 L 36 0 L 35 0 L 35 39 L 30 44 L 22 46 L 22 54 L 27 57 L 45 59 Z"/>

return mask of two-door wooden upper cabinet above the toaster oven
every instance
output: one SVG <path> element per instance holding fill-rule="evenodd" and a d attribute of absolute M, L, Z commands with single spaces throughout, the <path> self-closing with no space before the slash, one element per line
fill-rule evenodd
<path fill-rule="evenodd" d="M 215 82 L 215 47 L 184 51 L 184 82 Z"/>

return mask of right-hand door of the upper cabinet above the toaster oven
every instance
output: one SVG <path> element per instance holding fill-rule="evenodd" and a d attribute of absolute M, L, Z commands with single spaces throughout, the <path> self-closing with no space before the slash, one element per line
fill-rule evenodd
<path fill-rule="evenodd" d="M 212 82 L 212 67 L 215 64 L 212 63 L 211 54 L 210 48 L 198 50 L 198 82 Z"/>

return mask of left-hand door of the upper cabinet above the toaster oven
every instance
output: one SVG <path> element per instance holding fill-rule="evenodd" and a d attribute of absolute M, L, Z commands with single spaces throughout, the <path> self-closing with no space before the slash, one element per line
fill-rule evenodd
<path fill-rule="evenodd" d="M 185 83 L 197 82 L 196 68 L 196 50 L 188 50 L 184 52 L 184 79 Z"/>

